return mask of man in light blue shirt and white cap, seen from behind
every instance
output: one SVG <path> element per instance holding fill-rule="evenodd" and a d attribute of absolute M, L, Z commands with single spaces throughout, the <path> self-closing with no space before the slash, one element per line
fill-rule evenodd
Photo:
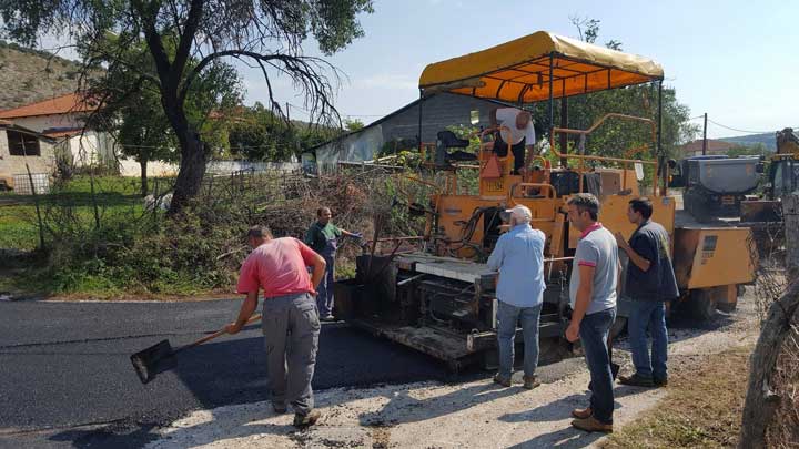
<path fill-rule="evenodd" d="M 522 324 L 525 339 L 524 387 L 540 385 L 535 370 L 538 367 L 538 322 L 544 298 L 544 241 L 543 232 L 530 227 L 533 214 L 518 205 L 510 214 L 510 229 L 503 234 L 488 257 L 488 267 L 499 272 L 497 296 L 497 345 L 499 373 L 494 381 L 510 386 L 514 364 L 516 324 Z"/>

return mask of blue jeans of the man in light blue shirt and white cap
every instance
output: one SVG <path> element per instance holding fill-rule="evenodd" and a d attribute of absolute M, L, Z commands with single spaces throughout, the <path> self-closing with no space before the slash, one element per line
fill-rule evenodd
<path fill-rule="evenodd" d="M 497 300 L 497 344 L 499 346 L 499 377 L 509 379 L 513 375 L 514 339 L 516 324 L 522 324 L 525 339 L 525 376 L 533 377 L 538 366 L 538 322 L 542 305 L 516 307 Z"/>

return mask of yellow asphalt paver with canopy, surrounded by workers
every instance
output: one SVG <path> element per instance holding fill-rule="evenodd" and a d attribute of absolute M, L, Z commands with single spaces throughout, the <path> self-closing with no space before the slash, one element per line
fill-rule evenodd
<path fill-rule="evenodd" d="M 424 251 L 397 255 L 395 247 L 392 254 L 373 251 L 362 256 L 356 278 L 336 285 L 336 313 L 353 325 L 455 367 L 490 354 L 496 344 L 496 273 L 481 261 L 504 232 L 502 212 L 523 204 L 533 212 L 532 226 L 546 234 L 540 337 L 563 343 L 569 318 L 568 276 L 579 236 L 566 218 L 566 203 L 579 192 L 596 194 L 601 202 L 599 221 L 627 237 L 635 231 L 626 215 L 628 202 L 648 196 L 655 206 L 653 220 L 672 237 L 681 302 L 705 317 L 717 306 L 735 307 L 738 286 L 755 276 L 750 232 L 676 226 L 676 202 L 667 191 L 670 167 L 660 149 L 659 104 L 655 120 L 608 114 L 586 130 L 552 125 L 555 101 L 650 83 L 659 102 L 663 79 L 661 67 L 653 60 L 548 32 L 427 65 L 419 79 L 419 130 L 424 100 L 438 92 L 519 109 L 548 102 L 548 157 L 534 155 L 523 174 L 514 174 L 513 152 L 508 149 L 498 156 L 493 143 L 482 139 L 475 162 L 448 164 L 445 182 L 431 184 L 436 192 L 422 207 L 427 217 L 425 235 L 419 237 Z M 585 141 L 611 121 L 646 126 L 651 141 L 643 147 L 621 149 L 619 157 L 607 157 L 591 154 L 589 147 L 569 152 L 565 139 L 559 139 Z M 435 144 L 419 146 L 426 154 Z M 559 166 L 552 166 L 550 161 Z M 469 170 L 478 172 L 476 194 L 458 188 Z M 619 300 L 617 329 L 624 326 L 628 305 Z"/>

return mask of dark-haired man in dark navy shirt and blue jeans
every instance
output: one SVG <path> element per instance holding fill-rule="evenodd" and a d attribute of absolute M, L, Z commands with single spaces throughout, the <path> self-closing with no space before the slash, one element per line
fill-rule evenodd
<path fill-rule="evenodd" d="M 633 302 L 627 328 L 636 373 L 619 376 L 624 385 L 661 387 L 667 384 L 666 369 L 668 333 L 666 302 L 679 296 L 666 229 L 650 220 L 653 204 L 646 197 L 629 202 L 627 218 L 638 225 L 629 242 L 616 233 L 616 242 L 629 257 L 625 296 Z M 647 343 L 647 327 L 651 334 L 651 358 Z"/>

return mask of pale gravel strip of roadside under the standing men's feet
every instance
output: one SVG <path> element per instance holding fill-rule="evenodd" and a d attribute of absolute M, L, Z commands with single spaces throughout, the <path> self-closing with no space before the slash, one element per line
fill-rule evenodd
<path fill-rule="evenodd" d="M 670 369 L 690 369 L 692 358 L 751 345 L 757 337 L 751 294 L 739 309 L 711 330 L 671 329 Z M 616 358 L 630 369 L 621 343 Z M 331 389 L 317 394 L 324 414 L 305 431 L 291 426 L 292 415 L 276 416 L 269 402 L 193 412 L 158 431 L 150 448 L 500 448 L 586 447 L 599 435 L 570 428 L 569 411 L 586 405 L 588 374 L 566 360 L 567 374 L 527 391 L 502 388 L 489 379 L 457 385 L 417 382 L 367 389 Z M 558 365 L 558 364 L 555 364 Z M 555 366 L 543 367 L 552 371 Z M 545 379 L 546 380 L 546 379 Z M 617 386 L 615 425 L 635 420 L 665 397 L 666 389 Z"/>

